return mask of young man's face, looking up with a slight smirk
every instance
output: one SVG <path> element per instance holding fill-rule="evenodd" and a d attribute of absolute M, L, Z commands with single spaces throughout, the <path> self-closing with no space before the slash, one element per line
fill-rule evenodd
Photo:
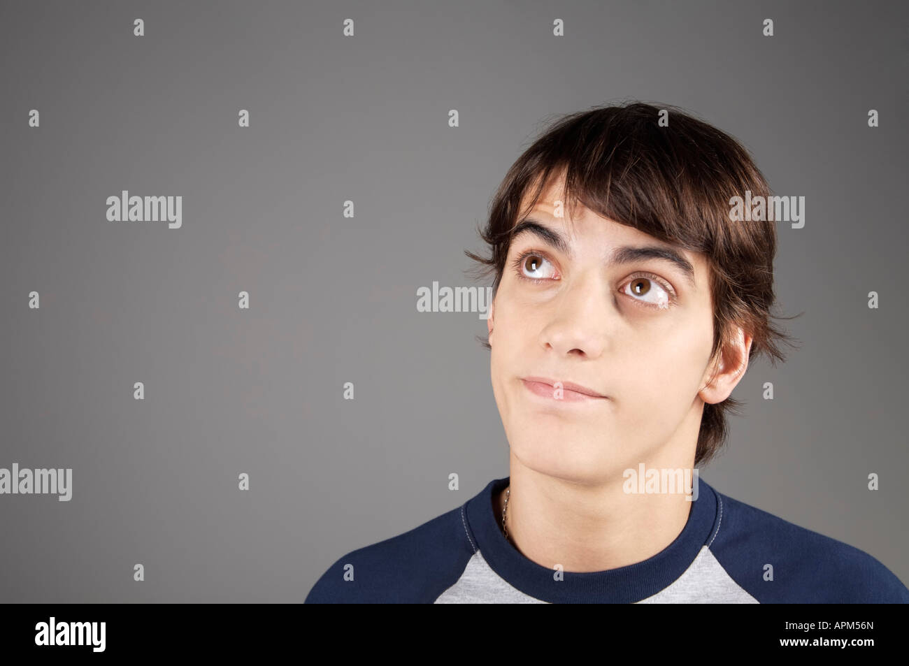
<path fill-rule="evenodd" d="M 576 482 L 621 476 L 672 452 L 693 456 L 713 342 L 704 256 L 586 208 L 569 224 L 556 216 L 560 188 L 544 190 L 524 220 L 563 236 L 569 251 L 532 231 L 514 236 L 487 320 L 512 452 L 526 467 Z M 667 259 L 614 263 L 623 247 L 673 250 L 691 264 L 694 283 Z M 524 381 L 534 376 L 606 397 Z"/>

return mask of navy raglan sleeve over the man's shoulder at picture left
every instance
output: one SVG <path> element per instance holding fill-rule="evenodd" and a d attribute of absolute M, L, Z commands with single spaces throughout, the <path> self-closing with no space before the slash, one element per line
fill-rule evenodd
<path fill-rule="evenodd" d="M 432 603 L 464 572 L 475 550 L 462 505 L 348 552 L 315 582 L 305 603 Z"/>

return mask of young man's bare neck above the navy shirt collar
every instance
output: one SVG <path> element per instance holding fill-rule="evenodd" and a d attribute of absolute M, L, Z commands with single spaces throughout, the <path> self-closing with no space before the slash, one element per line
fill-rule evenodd
<path fill-rule="evenodd" d="M 672 543 L 688 521 L 692 502 L 684 492 L 625 492 L 624 470 L 577 482 L 535 472 L 514 451 L 509 457 L 508 539 L 547 569 L 561 564 L 565 572 L 601 572 L 643 562 Z M 691 472 L 693 452 L 673 457 L 645 462 L 645 469 Z M 500 526 L 505 492 L 494 503 Z"/>

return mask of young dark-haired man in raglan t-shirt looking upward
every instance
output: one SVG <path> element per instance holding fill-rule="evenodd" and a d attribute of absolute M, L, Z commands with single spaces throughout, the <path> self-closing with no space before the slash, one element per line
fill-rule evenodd
<path fill-rule="evenodd" d="M 346 554 L 306 602 L 909 601 L 867 553 L 699 481 L 749 362 L 790 341 L 771 322 L 775 223 L 730 215 L 770 195 L 763 175 L 661 108 L 554 124 L 495 195 L 490 258 L 467 253 L 494 273 L 510 476 Z"/>

